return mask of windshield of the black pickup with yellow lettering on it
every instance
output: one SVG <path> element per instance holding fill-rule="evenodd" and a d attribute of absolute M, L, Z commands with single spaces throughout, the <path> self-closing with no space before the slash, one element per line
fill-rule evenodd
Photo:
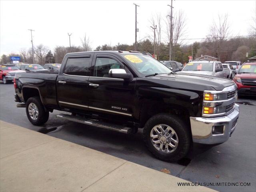
<path fill-rule="evenodd" d="M 138 72 L 144 75 L 172 72 L 164 64 L 147 55 L 124 55 L 124 58 L 134 66 Z"/>

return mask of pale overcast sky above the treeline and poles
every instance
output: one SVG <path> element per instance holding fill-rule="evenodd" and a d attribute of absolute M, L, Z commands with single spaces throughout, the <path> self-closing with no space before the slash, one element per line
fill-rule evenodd
<path fill-rule="evenodd" d="M 98 45 L 132 44 L 135 34 L 135 6 L 139 32 L 137 40 L 150 34 L 152 14 L 161 13 L 166 19 L 170 0 L 66 0 L 66 1 L 0 1 L 0 54 L 18 53 L 21 48 L 44 44 L 51 50 L 55 46 L 80 46 L 86 33 L 92 48 Z M 186 16 L 187 38 L 204 38 L 218 14 L 228 14 L 230 35 L 247 35 L 255 15 L 256 0 L 175 0 L 174 11 L 183 10 Z M 163 29 L 166 26 L 163 22 Z M 163 34 L 163 40 L 167 40 Z M 191 43 L 196 40 L 187 40 Z M 200 40 L 197 40 L 200 41 Z"/>

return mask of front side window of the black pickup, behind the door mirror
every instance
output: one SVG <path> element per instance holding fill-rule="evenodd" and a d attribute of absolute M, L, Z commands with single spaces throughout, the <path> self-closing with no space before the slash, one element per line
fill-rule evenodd
<path fill-rule="evenodd" d="M 124 65 L 112 58 L 96 58 L 94 77 L 108 77 L 110 69 L 124 69 Z"/>

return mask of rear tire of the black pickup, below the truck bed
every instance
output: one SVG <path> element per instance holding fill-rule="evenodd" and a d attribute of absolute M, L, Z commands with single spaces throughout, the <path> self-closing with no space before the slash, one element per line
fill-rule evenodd
<path fill-rule="evenodd" d="M 35 106 L 35 107 L 34 107 Z M 30 114 L 32 111 L 32 114 Z M 26 102 L 26 114 L 28 120 L 33 125 L 42 125 L 47 122 L 49 118 L 49 112 L 44 110 L 44 106 L 40 100 L 40 97 L 30 97 Z M 34 114 L 34 116 L 33 116 Z M 34 118 L 34 119 L 33 119 Z"/>

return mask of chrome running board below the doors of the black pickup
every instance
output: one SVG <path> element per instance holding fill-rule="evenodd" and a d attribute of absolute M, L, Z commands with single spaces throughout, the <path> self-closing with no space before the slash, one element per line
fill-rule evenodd
<path fill-rule="evenodd" d="M 68 115 L 68 114 L 58 114 L 58 115 L 56 115 L 56 117 L 61 118 L 61 119 L 66 119 L 69 121 L 86 124 L 86 125 L 91 125 L 91 126 L 109 129 L 109 130 L 113 130 L 113 131 L 117 131 L 117 132 L 121 132 L 121 133 L 126 133 L 126 134 L 132 132 L 132 128 L 130 128 L 130 127 L 117 125 L 117 124 L 110 124 L 107 122 L 101 122 L 101 121 L 98 121 L 95 119 L 90 119 L 90 118 L 83 118 L 83 117 L 72 116 L 72 115 Z"/>

